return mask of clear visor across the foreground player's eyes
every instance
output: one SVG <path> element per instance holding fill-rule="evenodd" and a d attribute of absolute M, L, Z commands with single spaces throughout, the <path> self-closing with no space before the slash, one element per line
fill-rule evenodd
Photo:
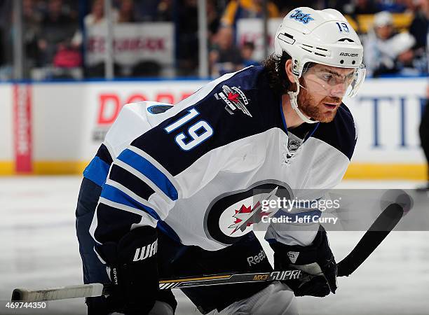
<path fill-rule="evenodd" d="M 354 97 L 365 80 L 365 73 L 364 64 L 354 69 L 334 67 L 313 69 L 312 67 L 301 76 L 304 85 L 300 84 L 300 87 L 308 92 L 329 97 Z"/>

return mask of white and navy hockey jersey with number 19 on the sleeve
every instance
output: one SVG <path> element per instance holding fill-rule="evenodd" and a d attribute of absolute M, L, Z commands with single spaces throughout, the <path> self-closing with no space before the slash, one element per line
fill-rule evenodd
<path fill-rule="evenodd" d="M 332 123 L 301 129 L 302 137 L 287 131 L 261 66 L 226 74 L 175 106 L 128 104 L 84 172 L 102 186 L 90 234 L 102 244 L 151 225 L 185 245 L 229 246 L 252 230 L 245 219 L 266 191 L 341 181 L 356 140 L 350 111 L 341 104 Z M 266 239 L 311 244 L 318 227 L 304 230 L 312 232 L 271 225 Z"/>

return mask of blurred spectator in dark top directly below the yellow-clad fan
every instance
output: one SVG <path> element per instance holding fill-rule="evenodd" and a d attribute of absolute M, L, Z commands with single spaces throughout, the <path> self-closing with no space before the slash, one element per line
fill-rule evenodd
<path fill-rule="evenodd" d="M 214 48 L 209 55 L 211 76 L 222 76 L 233 72 L 243 64 L 240 50 L 233 44 L 233 30 L 231 27 L 221 27 L 216 34 Z"/>

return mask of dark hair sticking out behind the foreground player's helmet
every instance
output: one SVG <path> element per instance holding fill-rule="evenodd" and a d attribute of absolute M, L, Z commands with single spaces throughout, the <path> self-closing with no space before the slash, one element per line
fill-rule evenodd
<path fill-rule="evenodd" d="M 287 52 L 283 52 L 281 57 L 273 53 L 262 62 L 266 68 L 268 83 L 276 94 L 286 94 L 292 86 L 285 69 L 288 59 L 292 59 L 292 57 Z"/>

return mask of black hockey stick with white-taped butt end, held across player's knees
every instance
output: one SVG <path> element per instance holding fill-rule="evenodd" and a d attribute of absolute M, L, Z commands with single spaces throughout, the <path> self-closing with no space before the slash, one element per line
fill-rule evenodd
<path fill-rule="evenodd" d="M 338 263 L 338 276 L 349 276 L 357 267 L 362 265 L 369 255 L 381 244 L 393 228 L 399 223 L 404 209 L 399 204 L 390 204 L 381 212 L 376 221 L 365 232 L 355 248 Z M 200 276 L 198 278 L 170 279 L 159 281 L 161 290 L 172 288 L 192 288 L 197 286 L 212 286 L 229 283 L 250 283 L 261 281 L 299 279 L 304 275 L 300 270 L 282 270 L 273 272 L 257 272 L 250 274 L 217 274 Z M 12 293 L 13 301 L 39 302 L 62 300 L 75 297 L 95 297 L 109 294 L 109 284 L 82 284 L 41 290 L 16 288 Z"/>

